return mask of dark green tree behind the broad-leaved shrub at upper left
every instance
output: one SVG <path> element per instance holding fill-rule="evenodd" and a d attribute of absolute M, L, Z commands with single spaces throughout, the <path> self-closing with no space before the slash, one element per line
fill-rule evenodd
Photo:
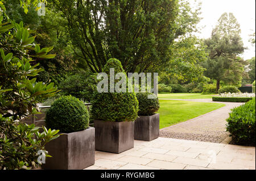
<path fill-rule="evenodd" d="M 42 47 L 53 45 L 51 50 L 56 56 L 50 60 L 45 58 L 34 58 L 34 65 L 40 62 L 40 68 L 44 71 L 36 76 L 38 81 L 54 82 L 59 85 L 67 75 L 71 74 L 77 66 L 77 58 L 74 57 L 73 50 L 70 48 L 70 41 L 67 36 L 67 20 L 61 17 L 60 13 L 55 13 L 48 8 L 44 16 L 39 16 L 36 7 L 28 7 L 25 13 L 20 7 L 19 0 L 6 0 L 6 14 L 15 22 L 23 22 L 24 27 L 30 27 L 31 34 L 35 36 L 35 43 Z M 47 6 L 48 7 L 48 6 Z"/>

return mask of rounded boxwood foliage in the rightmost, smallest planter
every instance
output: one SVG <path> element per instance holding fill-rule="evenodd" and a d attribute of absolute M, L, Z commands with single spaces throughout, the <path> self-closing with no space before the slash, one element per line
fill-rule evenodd
<path fill-rule="evenodd" d="M 148 95 L 155 96 L 155 99 L 148 99 Z M 149 92 L 139 92 L 136 94 L 136 96 L 139 102 L 139 116 L 151 116 L 159 110 L 159 100 L 155 94 Z"/>

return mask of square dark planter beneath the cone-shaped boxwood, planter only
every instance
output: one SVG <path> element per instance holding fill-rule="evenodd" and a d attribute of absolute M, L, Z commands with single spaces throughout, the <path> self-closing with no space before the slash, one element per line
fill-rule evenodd
<path fill-rule="evenodd" d="M 95 149 L 121 153 L 134 146 L 134 121 L 94 120 Z"/>

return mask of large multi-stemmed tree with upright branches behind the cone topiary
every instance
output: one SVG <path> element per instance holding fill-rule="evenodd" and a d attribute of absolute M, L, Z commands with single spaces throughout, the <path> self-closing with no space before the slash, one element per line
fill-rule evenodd
<path fill-rule="evenodd" d="M 95 72 L 118 58 L 126 72 L 168 62 L 173 41 L 195 29 L 197 11 L 187 1 L 52 0 L 68 20 L 73 50 Z"/>

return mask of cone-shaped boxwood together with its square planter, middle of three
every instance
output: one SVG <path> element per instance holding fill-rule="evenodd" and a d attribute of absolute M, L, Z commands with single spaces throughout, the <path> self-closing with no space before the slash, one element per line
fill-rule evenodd
<path fill-rule="evenodd" d="M 114 68 L 115 73 L 125 73 L 121 62 L 111 58 L 103 70 L 108 80 L 110 68 Z M 112 86 L 110 84 L 108 90 Z M 94 93 L 91 113 L 94 118 L 96 150 L 121 153 L 134 146 L 134 120 L 138 117 L 138 100 L 134 92 L 127 91 L 127 84 L 125 90 Z"/>

